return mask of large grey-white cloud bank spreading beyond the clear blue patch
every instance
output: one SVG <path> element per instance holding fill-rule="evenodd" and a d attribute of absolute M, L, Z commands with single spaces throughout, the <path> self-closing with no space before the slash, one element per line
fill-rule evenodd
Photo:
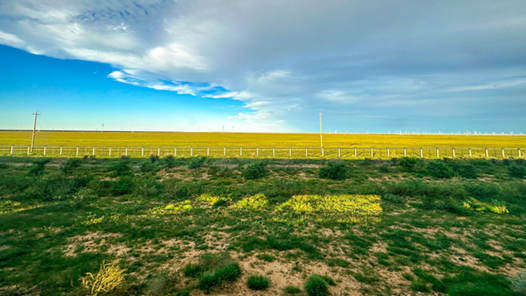
<path fill-rule="evenodd" d="M 461 130 L 526 107 L 523 0 L 7 0 L 0 44 L 238 100 L 231 118 L 273 130 L 315 131 L 320 111 L 340 130 Z"/>

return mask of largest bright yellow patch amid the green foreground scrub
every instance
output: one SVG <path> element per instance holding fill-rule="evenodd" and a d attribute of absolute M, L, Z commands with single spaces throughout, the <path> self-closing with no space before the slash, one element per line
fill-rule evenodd
<path fill-rule="evenodd" d="M 297 223 L 306 220 L 316 222 L 337 221 L 363 223 L 377 221 L 382 214 L 379 195 L 298 195 L 276 208 L 282 217 L 278 220 L 293 219 Z M 295 214 L 300 217 L 289 217 Z"/>

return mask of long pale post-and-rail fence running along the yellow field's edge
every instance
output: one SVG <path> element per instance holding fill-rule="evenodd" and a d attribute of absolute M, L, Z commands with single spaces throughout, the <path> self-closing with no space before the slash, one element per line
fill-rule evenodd
<path fill-rule="evenodd" d="M 104 147 L 104 146 L 34 146 L 0 145 L 2 156 L 114 158 L 120 156 L 149 157 L 236 157 L 236 158 L 524 158 L 526 148 L 464 147 Z"/>

